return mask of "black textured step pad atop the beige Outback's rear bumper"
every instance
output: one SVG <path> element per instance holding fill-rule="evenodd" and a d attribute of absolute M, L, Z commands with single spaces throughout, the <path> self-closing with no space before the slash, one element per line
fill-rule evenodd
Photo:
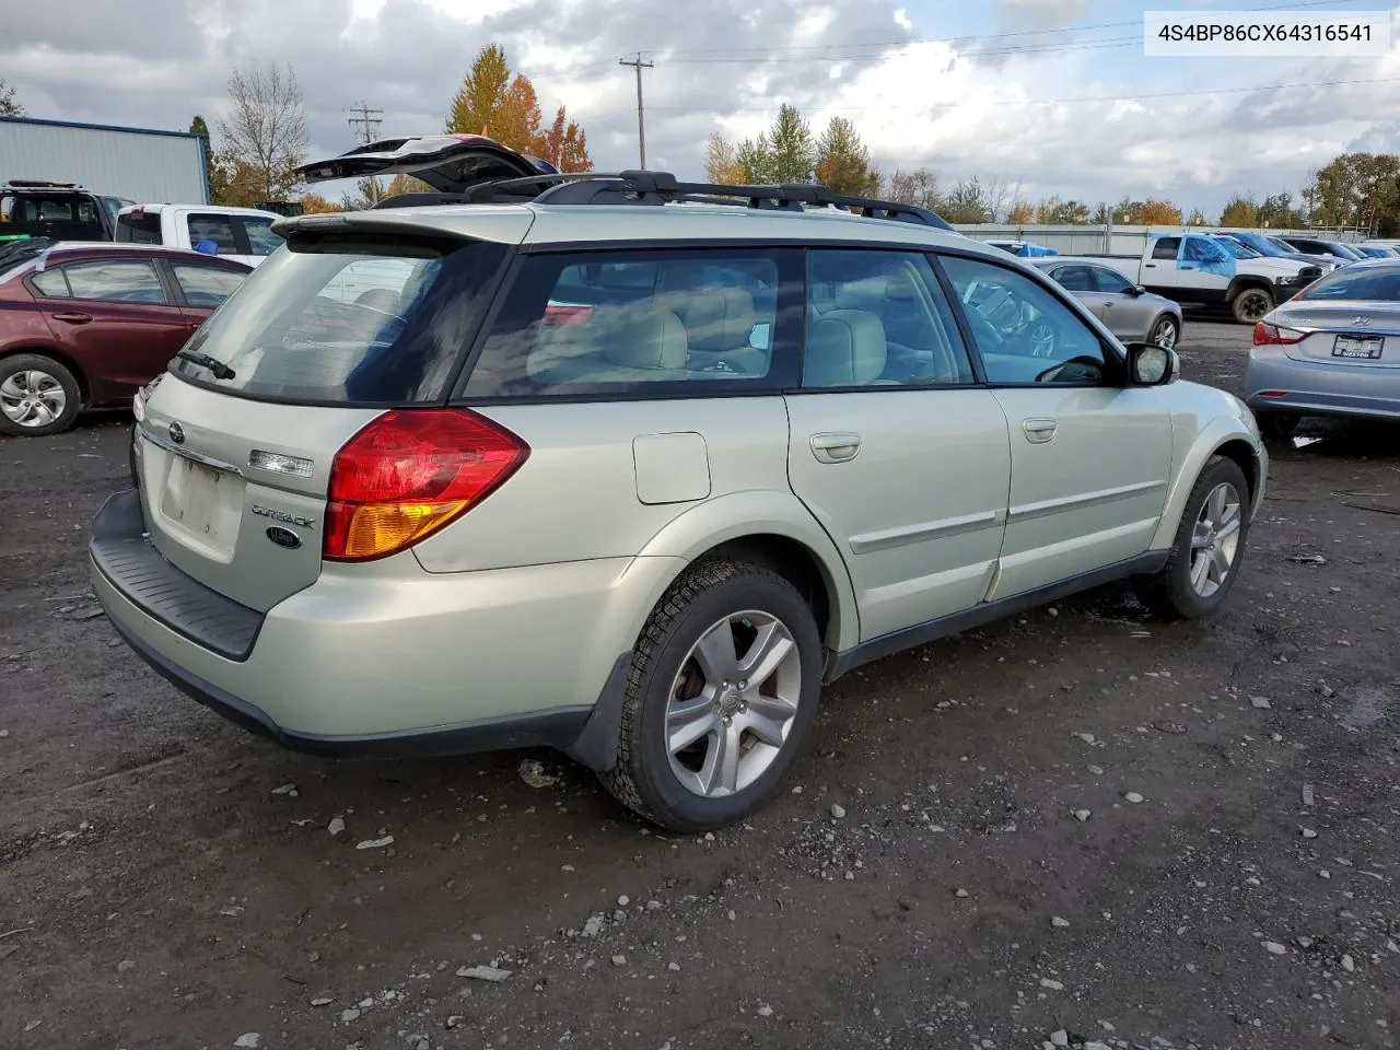
<path fill-rule="evenodd" d="M 263 613 L 211 591 L 181 573 L 143 535 L 141 496 L 125 489 L 92 519 L 88 553 L 126 601 L 176 634 L 228 659 L 253 651 Z"/>

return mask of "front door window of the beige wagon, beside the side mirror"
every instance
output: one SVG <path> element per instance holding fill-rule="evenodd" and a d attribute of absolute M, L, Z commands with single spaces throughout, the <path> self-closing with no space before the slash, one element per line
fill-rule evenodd
<path fill-rule="evenodd" d="M 1035 279 L 1001 266 L 945 256 L 987 381 L 1022 386 L 1098 386 L 1110 364 L 1093 330 Z"/>

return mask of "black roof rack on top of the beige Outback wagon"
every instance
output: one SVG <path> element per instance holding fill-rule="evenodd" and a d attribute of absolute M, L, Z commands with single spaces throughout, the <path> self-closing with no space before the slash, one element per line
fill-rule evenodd
<path fill-rule="evenodd" d="M 725 185 L 717 182 L 680 182 L 665 171 L 573 172 L 493 179 L 470 186 L 465 193 L 402 193 L 375 207 L 410 207 L 414 204 L 731 204 L 781 211 L 805 211 L 808 206 L 857 211 L 867 218 L 893 218 L 939 230 L 952 227 L 935 211 L 896 200 L 858 197 L 837 193 L 829 186 L 806 182 L 781 185 Z"/>

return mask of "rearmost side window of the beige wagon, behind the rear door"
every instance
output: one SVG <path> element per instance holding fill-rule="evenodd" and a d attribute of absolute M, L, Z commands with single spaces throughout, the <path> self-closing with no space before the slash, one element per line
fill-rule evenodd
<path fill-rule="evenodd" d="M 461 393 L 708 396 L 797 378 L 801 256 L 655 249 L 526 256 Z"/>

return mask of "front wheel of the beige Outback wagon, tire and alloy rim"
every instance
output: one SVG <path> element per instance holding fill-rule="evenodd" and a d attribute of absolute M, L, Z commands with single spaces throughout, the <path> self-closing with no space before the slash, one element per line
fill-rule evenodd
<path fill-rule="evenodd" d="M 1233 459 L 1214 456 L 1196 479 L 1166 564 L 1145 581 L 1144 599 L 1169 620 L 1214 615 L 1239 577 L 1247 535 L 1249 482 Z"/>

